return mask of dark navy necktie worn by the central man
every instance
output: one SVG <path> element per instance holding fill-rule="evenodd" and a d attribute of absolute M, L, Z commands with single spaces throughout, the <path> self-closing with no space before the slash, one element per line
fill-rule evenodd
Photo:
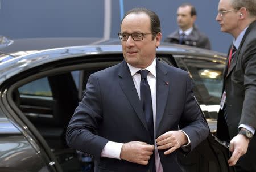
<path fill-rule="evenodd" d="M 155 144 L 154 136 L 154 122 L 153 122 L 153 109 L 150 86 L 147 82 L 148 70 L 139 70 L 137 73 L 141 74 L 141 103 L 146 117 L 147 128 L 151 136 L 151 144 Z M 153 151 L 154 152 L 154 151 Z M 150 158 L 150 171 L 155 172 L 155 153 Z"/>

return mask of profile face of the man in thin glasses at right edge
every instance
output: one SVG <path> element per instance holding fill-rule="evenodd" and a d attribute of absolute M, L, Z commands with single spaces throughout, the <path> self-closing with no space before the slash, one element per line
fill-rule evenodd
<path fill-rule="evenodd" d="M 220 15 L 221 11 L 227 11 Z M 236 35 L 238 31 L 238 21 L 240 18 L 239 12 L 237 10 L 233 10 L 232 5 L 230 4 L 229 0 L 220 0 L 218 3 L 218 14 L 216 16 L 216 20 L 220 24 L 221 31 L 227 32 L 232 34 L 233 36 Z"/>

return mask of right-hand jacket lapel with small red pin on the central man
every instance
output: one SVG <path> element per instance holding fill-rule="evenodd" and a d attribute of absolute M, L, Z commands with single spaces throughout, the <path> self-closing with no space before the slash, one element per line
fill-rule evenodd
<path fill-rule="evenodd" d="M 156 135 L 159 123 L 162 120 L 164 109 L 166 109 L 166 102 L 170 88 L 170 78 L 167 77 L 166 68 L 156 60 Z"/>

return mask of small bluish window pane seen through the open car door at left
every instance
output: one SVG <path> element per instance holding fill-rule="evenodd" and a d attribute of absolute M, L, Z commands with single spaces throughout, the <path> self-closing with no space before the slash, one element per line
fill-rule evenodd
<path fill-rule="evenodd" d="M 52 96 L 48 79 L 41 78 L 19 87 L 19 94 L 32 96 Z"/>

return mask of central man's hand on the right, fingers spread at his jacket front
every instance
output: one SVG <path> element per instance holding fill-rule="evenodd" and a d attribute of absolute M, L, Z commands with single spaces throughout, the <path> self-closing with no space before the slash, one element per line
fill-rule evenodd
<path fill-rule="evenodd" d="M 164 154 L 170 154 L 187 143 L 188 138 L 182 131 L 168 131 L 156 139 L 159 150 L 170 148 Z"/>

